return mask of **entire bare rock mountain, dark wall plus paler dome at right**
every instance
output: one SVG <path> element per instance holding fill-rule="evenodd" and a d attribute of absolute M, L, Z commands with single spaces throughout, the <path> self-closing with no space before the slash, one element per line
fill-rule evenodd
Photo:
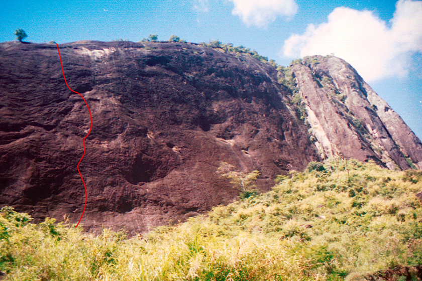
<path fill-rule="evenodd" d="M 142 232 L 227 204 L 239 191 L 216 174 L 222 162 L 261 171 L 262 190 L 336 155 L 422 168 L 419 139 L 338 58 L 292 65 L 293 103 L 277 82 L 284 74 L 247 54 L 191 43 L 59 47 L 92 112 L 79 166 L 87 229 Z M 0 204 L 77 222 L 90 119 L 56 45 L 1 43 L 0 69 Z"/>

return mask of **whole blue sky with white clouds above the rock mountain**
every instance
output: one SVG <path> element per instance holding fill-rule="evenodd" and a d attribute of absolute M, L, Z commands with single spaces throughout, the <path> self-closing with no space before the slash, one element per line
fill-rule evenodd
<path fill-rule="evenodd" d="M 243 45 L 281 65 L 321 54 L 345 59 L 422 138 L 422 1 L 0 0 L 0 42 L 167 40 Z"/>

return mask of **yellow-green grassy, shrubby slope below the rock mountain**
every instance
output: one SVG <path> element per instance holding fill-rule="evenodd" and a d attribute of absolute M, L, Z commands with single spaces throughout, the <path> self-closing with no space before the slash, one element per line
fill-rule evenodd
<path fill-rule="evenodd" d="M 6 207 L 0 270 L 10 280 L 417 280 L 422 172 L 340 161 L 277 181 L 270 192 L 132 239 L 50 219 L 32 224 Z"/>

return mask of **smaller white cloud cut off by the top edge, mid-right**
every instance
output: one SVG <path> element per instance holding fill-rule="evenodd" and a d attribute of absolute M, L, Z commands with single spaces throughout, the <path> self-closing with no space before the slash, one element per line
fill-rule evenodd
<path fill-rule="evenodd" d="M 230 0 L 235 5 L 232 14 L 248 25 L 266 27 L 278 16 L 293 16 L 297 5 L 294 0 Z"/>

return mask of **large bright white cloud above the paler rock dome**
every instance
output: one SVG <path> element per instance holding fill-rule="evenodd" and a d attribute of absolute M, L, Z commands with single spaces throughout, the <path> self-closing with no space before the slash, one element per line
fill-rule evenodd
<path fill-rule="evenodd" d="M 328 22 L 293 34 L 282 53 L 288 57 L 334 53 L 367 81 L 407 74 L 410 56 L 422 53 L 422 1 L 399 0 L 391 27 L 370 11 L 336 8 Z"/>

